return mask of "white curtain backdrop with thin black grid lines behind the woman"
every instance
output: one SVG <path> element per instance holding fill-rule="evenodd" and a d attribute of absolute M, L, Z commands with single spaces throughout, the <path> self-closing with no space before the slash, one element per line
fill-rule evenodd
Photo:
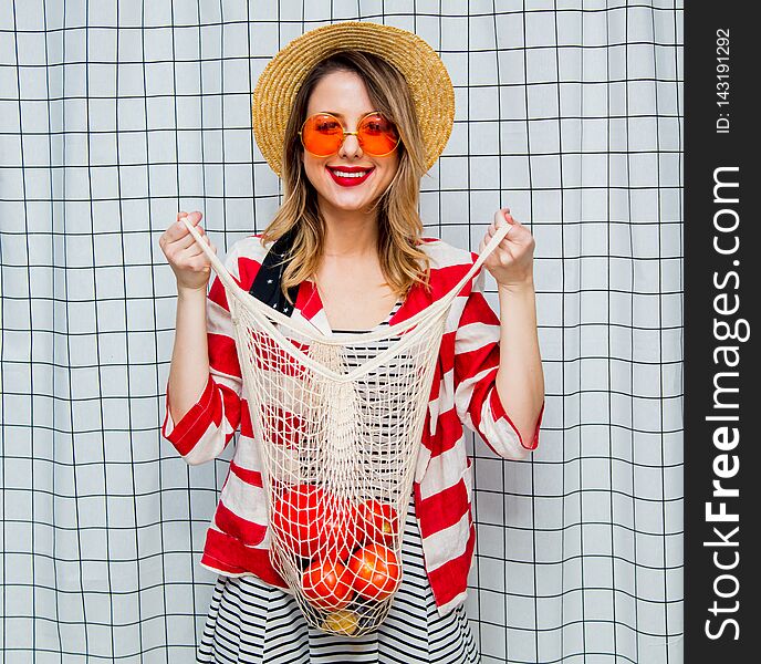
<path fill-rule="evenodd" d="M 483 662 L 681 662 L 681 4 L 1 2 L 3 661 L 192 658 L 232 446 L 188 467 L 160 437 L 158 237 L 200 209 L 221 257 L 265 227 L 258 75 L 362 19 L 427 40 L 457 91 L 428 235 L 477 249 L 507 205 L 536 238 L 540 449 L 471 443 Z"/>

